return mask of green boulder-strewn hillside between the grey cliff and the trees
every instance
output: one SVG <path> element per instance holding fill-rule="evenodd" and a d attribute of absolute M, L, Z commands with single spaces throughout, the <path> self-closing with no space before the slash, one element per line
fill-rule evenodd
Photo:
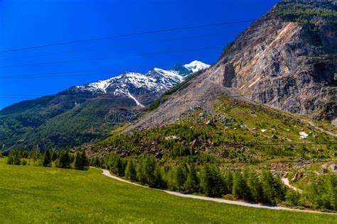
<path fill-rule="evenodd" d="M 213 110 L 210 114 L 196 109 L 171 125 L 117 133 L 87 148 L 94 154 L 114 151 L 164 159 L 203 155 L 225 162 L 336 159 L 337 131 L 329 123 L 227 96 L 220 97 Z"/>

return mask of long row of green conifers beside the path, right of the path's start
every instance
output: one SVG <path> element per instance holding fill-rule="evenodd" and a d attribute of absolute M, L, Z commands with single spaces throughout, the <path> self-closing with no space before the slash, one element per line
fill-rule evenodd
<path fill-rule="evenodd" d="M 257 174 L 247 168 L 243 172 L 221 172 L 217 164 L 194 165 L 186 162 L 161 164 L 154 156 L 90 159 L 90 165 L 109 169 L 113 174 L 157 189 L 170 189 L 186 194 L 220 197 L 232 195 L 237 199 L 262 203 L 285 200 L 287 188 L 279 176 L 269 170 Z"/>

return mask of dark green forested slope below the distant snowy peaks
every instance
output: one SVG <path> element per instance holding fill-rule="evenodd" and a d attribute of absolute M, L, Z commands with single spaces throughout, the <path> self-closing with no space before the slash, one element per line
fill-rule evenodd
<path fill-rule="evenodd" d="M 40 150 L 65 149 L 95 142 L 126 123 L 126 118 L 116 118 L 117 114 L 137 115 L 137 110 L 130 107 L 132 100 L 64 98 L 23 101 L 0 111 L 0 150 L 31 151 L 36 146 Z"/>

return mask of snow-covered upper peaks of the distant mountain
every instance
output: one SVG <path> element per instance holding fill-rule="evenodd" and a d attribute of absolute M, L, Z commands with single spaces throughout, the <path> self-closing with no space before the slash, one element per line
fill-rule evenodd
<path fill-rule="evenodd" d="M 146 72 L 146 74 L 125 72 L 110 79 L 75 86 L 75 90 L 90 92 L 95 95 L 110 94 L 112 96 L 126 97 L 132 99 L 137 106 L 144 107 L 143 99 L 146 99 L 145 103 L 146 101 L 153 101 L 154 97 L 158 97 L 164 91 L 183 82 L 188 74 L 208 68 L 210 65 L 193 61 L 190 64 L 180 65 L 180 67 L 183 67 L 183 70 L 173 68 L 168 71 L 154 68 Z"/>

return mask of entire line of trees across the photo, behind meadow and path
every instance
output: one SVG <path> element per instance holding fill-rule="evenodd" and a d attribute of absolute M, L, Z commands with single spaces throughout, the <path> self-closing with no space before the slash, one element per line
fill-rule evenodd
<path fill-rule="evenodd" d="M 287 188 L 278 175 L 268 169 L 255 171 L 223 171 L 215 160 L 194 163 L 189 159 L 164 162 L 151 156 L 107 157 L 87 159 L 85 152 L 50 151 L 44 153 L 14 150 L 8 164 L 86 170 L 88 166 L 109 169 L 119 177 L 156 189 L 169 189 L 184 194 L 242 199 L 261 203 L 282 203 L 287 206 L 319 208 L 337 211 L 337 175 L 314 175 L 306 179 L 303 193 Z"/>

